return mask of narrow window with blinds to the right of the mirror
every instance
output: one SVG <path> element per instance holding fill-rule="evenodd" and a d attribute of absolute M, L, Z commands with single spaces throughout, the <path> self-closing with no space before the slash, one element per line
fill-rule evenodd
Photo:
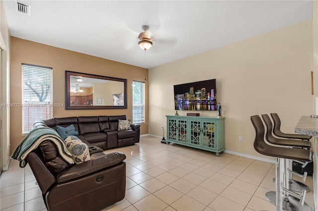
<path fill-rule="evenodd" d="M 133 123 L 145 123 L 145 83 L 133 81 Z"/>

